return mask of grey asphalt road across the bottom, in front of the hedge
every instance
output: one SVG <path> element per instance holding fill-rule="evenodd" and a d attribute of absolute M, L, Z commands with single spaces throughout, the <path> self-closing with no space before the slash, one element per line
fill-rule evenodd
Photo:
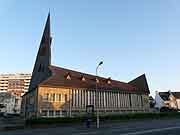
<path fill-rule="evenodd" d="M 24 129 L 0 132 L 0 135 L 180 135 L 180 119 L 145 120 L 121 123 L 101 123 L 87 129 L 84 125 Z"/>

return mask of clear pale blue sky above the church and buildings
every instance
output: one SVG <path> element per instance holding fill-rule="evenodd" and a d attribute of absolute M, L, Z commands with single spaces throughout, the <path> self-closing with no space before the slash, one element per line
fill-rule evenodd
<path fill-rule="evenodd" d="M 0 73 L 32 72 L 49 11 L 53 65 L 180 91 L 179 0 L 0 0 Z"/>

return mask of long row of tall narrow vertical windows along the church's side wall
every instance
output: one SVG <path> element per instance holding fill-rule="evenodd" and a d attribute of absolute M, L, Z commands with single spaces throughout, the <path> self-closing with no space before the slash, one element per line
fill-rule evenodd
<path fill-rule="evenodd" d="M 98 104 L 96 104 L 98 101 Z M 88 90 L 72 90 L 72 107 L 86 107 L 96 105 L 99 107 L 141 107 L 141 95 L 123 94 L 120 92 L 98 92 Z"/>

